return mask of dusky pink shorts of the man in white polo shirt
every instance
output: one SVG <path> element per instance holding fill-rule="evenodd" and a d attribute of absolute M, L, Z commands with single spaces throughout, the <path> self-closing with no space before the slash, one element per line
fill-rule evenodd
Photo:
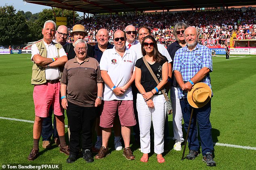
<path fill-rule="evenodd" d="M 122 126 L 136 125 L 132 100 L 104 101 L 103 111 L 100 117 L 100 126 L 103 128 L 113 127 L 115 114 L 118 111 Z"/>

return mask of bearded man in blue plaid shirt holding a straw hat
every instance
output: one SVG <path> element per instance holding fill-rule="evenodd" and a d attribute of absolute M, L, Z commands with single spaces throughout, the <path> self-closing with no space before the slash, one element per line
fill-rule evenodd
<path fill-rule="evenodd" d="M 211 51 L 208 47 L 197 43 L 198 32 L 195 27 L 185 29 L 184 35 L 187 45 L 176 51 L 173 70 L 178 82 L 178 97 L 184 128 L 188 133 L 189 154 L 187 159 L 193 160 L 199 154 L 198 125 L 203 161 L 208 166 L 216 166 L 212 154 L 214 149 L 210 123 L 211 97 L 213 95 L 210 79 Z"/>

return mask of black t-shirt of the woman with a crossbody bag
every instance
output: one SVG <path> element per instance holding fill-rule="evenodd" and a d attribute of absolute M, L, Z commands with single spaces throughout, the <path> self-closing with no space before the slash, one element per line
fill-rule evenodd
<path fill-rule="evenodd" d="M 155 62 L 152 65 L 149 64 L 149 66 L 153 70 L 159 82 L 162 81 L 162 66 L 165 62 L 168 62 L 168 59 L 166 57 L 164 57 L 164 59 L 159 63 Z M 157 83 L 155 82 L 154 78 L 151 76 L 143 59 L 142 58 L 138 59 L 136 61 L 135 66 L 141 69 L 141 85 L 143 86 L 146 92 L 150 92 L 153 88 L 157 86 Z M 159 92 L 156 93 L 155 95 L 162 94 L 161 92 L 162 89 L 158 89 L 158 90 Z M 164 88 L 164 91 L 166 92 L 165 88 Z M 138 91 L 138 93 L 140 92 Z"/>

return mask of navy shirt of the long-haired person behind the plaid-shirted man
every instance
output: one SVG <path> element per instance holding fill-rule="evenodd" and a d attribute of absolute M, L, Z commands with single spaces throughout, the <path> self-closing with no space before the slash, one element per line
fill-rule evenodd
<path fill-rule="evenodd" d="M 173 68 L 173 61 L 174 61 L 174 55 L 178 49 L 182 48 L 178 41 L 173 42 L 172 44 L 168 45 L 167 51 L 169 52 L 171 58 L 172 58 L 172 68 Z M 171 86 L 178 87 L 178 83 L 176 81 L 176 78 L 174 76 L 174 72 L 172 72 L 172 80 L 171 80 Z"/>

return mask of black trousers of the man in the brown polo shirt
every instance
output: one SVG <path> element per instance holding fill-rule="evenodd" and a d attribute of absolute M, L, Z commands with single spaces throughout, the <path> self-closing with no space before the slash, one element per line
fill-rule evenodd
<path fill-rule="evenodd" d="M 70 154 L 78 155 L 82 135 L 82 150 L 92 147 L 92 126 L 96 119 L 96 107 L 80 107 L 68 102 L 67 119 L 70 130 Z"/>

